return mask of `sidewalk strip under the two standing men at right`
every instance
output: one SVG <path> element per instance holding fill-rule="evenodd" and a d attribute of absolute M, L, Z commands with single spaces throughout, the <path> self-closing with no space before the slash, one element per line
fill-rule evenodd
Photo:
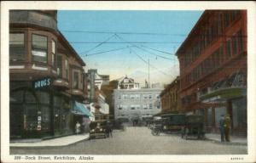
<path fill-rule="evenodd" d="M 221 142 L 220 135 L 217 133 L 206 133 L 206 138 L 212 140 L 215 143 L 223 143 L 230 145 L 247 145 L 247 138 L 230 136 L 230 142 Z"/>

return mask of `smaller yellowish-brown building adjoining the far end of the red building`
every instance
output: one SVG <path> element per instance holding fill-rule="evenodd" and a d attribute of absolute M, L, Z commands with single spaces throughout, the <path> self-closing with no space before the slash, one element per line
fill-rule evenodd
<path fill-rule="evenodd" d="M 182 112 L 181 100 L 178 96 L 180 88 L 179 76 L 160 93 L 161 113 Z"/>

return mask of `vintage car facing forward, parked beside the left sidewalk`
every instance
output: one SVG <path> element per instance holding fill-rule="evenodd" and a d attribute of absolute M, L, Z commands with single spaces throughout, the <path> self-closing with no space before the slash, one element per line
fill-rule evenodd
<path fill-rule="evenodd" d="M 107 121 L 91 121 L 90 122 L 90 139 L 91 138 L 107 138 L 106 133 Z"/>

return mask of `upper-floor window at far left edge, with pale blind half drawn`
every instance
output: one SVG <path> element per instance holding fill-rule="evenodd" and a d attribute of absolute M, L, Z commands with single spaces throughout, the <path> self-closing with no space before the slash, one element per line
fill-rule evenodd
<path fill-rule="evenodd" d="M 9 34 L 9 59 L 25 60 L 24 33 Z"/>

